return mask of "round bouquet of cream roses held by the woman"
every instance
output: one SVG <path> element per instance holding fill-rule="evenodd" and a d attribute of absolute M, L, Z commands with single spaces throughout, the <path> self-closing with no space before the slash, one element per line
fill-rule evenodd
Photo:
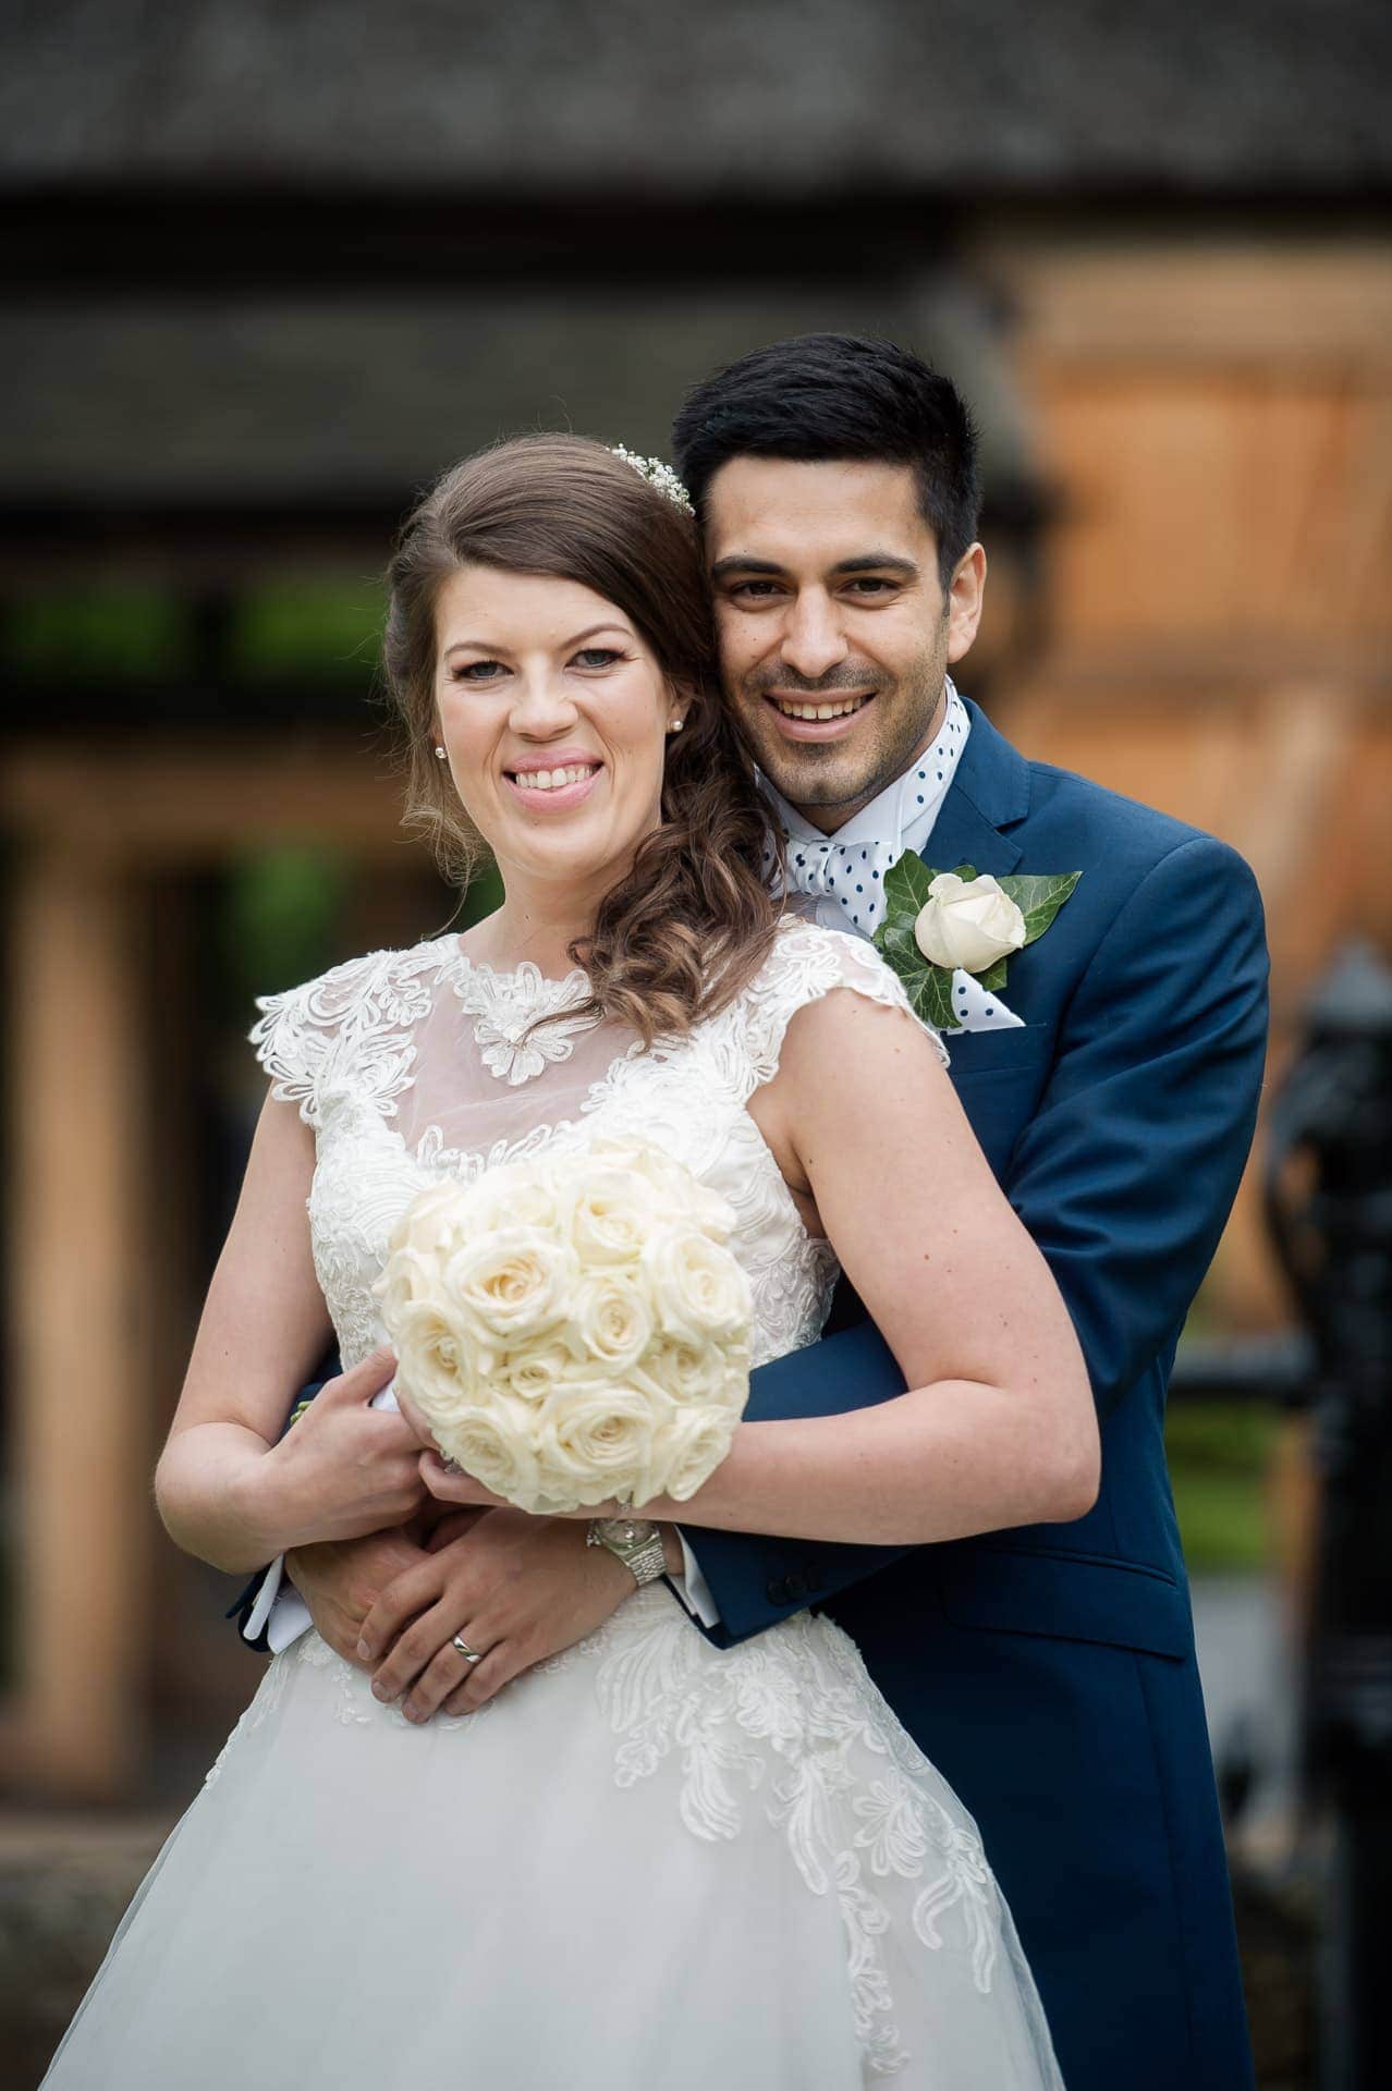
<path fill-rule="evenodd" d="M 420 1192 L 376 1294 L 439 1451 L 520 1510 L 694 1495 L 748 1399 L 734 1213 L 642 1142 Z"/>

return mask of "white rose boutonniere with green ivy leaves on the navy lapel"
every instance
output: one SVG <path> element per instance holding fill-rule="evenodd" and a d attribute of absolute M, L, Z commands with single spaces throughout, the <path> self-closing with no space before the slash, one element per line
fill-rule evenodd
<path fill-rule="evenodd" d="M 974 864 L 934 872 L 909 851 L 884 874 L 876 949 L 903 981 L 913 1014 L 953 1031 L 953 974 L 968 972 L 987 993 L 999 993 L 1014 953 L 1043 937 L 1081 876 L 993 878 Z"/>

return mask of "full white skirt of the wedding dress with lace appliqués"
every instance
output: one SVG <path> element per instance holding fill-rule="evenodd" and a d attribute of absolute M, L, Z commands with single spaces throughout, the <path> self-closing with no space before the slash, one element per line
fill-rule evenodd
<path fill-rule="evenodd" d="M 803 1614 L 660 1583 L 414 1727 L 309 1633 L 169 1836 L 48 2091 L 1062 2091 L 972 1819 Z"/>

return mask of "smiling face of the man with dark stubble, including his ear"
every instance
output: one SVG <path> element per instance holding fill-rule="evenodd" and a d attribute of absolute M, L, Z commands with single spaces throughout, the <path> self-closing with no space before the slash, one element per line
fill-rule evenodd
<path fill-rule="evenodd" d="M 943 592 L 897 464 L 738 456 L 711 481 L 704 527 L 725 692 L 763 772 L 832 834 L 938 730 L 984 558 Z"/>

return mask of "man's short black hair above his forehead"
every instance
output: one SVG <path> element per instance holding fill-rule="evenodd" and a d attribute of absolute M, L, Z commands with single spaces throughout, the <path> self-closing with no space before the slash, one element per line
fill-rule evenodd
<path fill-rule="evenodd" d="M 694 385 L 671 431 L 696 514 L 732 458 L 907 464 L 947 588 L 976 537 L 976 429 L 951 378 L 892 341 L 801 335 L 740 355 Z"/>

